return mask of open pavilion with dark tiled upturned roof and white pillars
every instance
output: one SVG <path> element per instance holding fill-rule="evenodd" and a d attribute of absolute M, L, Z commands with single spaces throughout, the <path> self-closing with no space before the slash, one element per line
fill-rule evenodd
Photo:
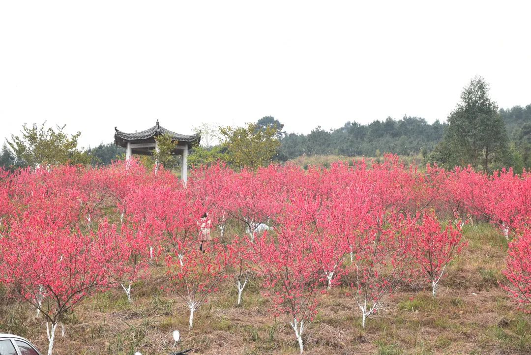
<path fill-rule="evenodd" d="M 201 136 L 199 135 L 184 135 L 169 131 L 157 123 L 155 126 L 146 129 L 145 131 L 135 132 L 135 133 L 125 133 L 118 131 L 114 133 L 114 143 L 116 145 L 122 146 L 127 150 L 126 159 L 129 160 L 133 154 L 139 155 L 152 155 L 153 151 L 157 150 L 157 141 L 155 137 L 160 135 L 169 135 L 172 137 L 173 142 L 177 143 L 174 150 L 172 150 L 172 155 L 181 155 L 181 167 L 182 174 L 181 178 L 186 182 L 188 179 L 188 150 L 192 146 L 199 145 Z"/>

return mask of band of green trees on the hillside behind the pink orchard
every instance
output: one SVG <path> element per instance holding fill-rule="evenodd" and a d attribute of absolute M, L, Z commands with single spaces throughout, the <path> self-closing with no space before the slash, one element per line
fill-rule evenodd
<path fill-rule="evenodd" d="M 466 166 L 492 171 L 512 166 L 515 171 L 531 167 L 531 104 L 498 109 L 489 96 L 489 84 L 474 77 L 461 92 L 461 101 L 450 112 L 447 122 L 428 123 L 421 117 L 404 116 L 375 120 L 370 124 L 347 122 L 327 131 L 321 126 L 309 134 L 286 133 L 284 125 L 265 116 L 244 127 L 196 128 L 202 144 L 192 149 L 189 163 L 210 164 L 226 161 L 236 169 L 256 168 L 271 161 L 285 162 L 301 155 L 344 155 L 379 157 L 383 153 L 421 155 L 424 162 L 442 167 Z M 23 126 L 21 136 L 11 136 L 0 152 L 0 167 L 35 166 L 71 162 L 107 165 L 124 159 L 125 150 L 114 143 L 101 143 L 87 150 L 77 148 L 80 132 L 67 135 L 64 126 Z M 166 154 L 173 142 L 159 137 L 161 152 L 157 161 L 167 168 L 178 159 Z M 166 157 L 168 155 L 168 157 Z M 145 164 L 155 159 L 142 157 Z"/>

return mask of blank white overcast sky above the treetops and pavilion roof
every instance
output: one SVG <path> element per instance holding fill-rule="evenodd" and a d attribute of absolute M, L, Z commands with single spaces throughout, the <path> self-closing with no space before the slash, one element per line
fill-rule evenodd
<path fill-rule="evenodd" d="M 387 116 L 446 119 L 476 74 L 500 107 L 531 103 L 531 2 L 2 1 L 0 141 L 66 124 L 275 116 L 288 132 Z"/>

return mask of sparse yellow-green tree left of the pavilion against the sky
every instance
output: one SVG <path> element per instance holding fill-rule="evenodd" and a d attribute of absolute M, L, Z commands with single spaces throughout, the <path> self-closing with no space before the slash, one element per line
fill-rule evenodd
<path fill-rule="evenodd" d="M 7 144 L 13 150 L 17 164 L 35 168 L 40 164 L 90 163 L 88 154 L 78 150 L 81 132 L 68 135 L 63 132 L 66 125 L 53 129 L 45 128 L 45 124 L 40 127 L 36 123 L 31 127 L 24 124 L 21 136 L 11 135 Z"/>

